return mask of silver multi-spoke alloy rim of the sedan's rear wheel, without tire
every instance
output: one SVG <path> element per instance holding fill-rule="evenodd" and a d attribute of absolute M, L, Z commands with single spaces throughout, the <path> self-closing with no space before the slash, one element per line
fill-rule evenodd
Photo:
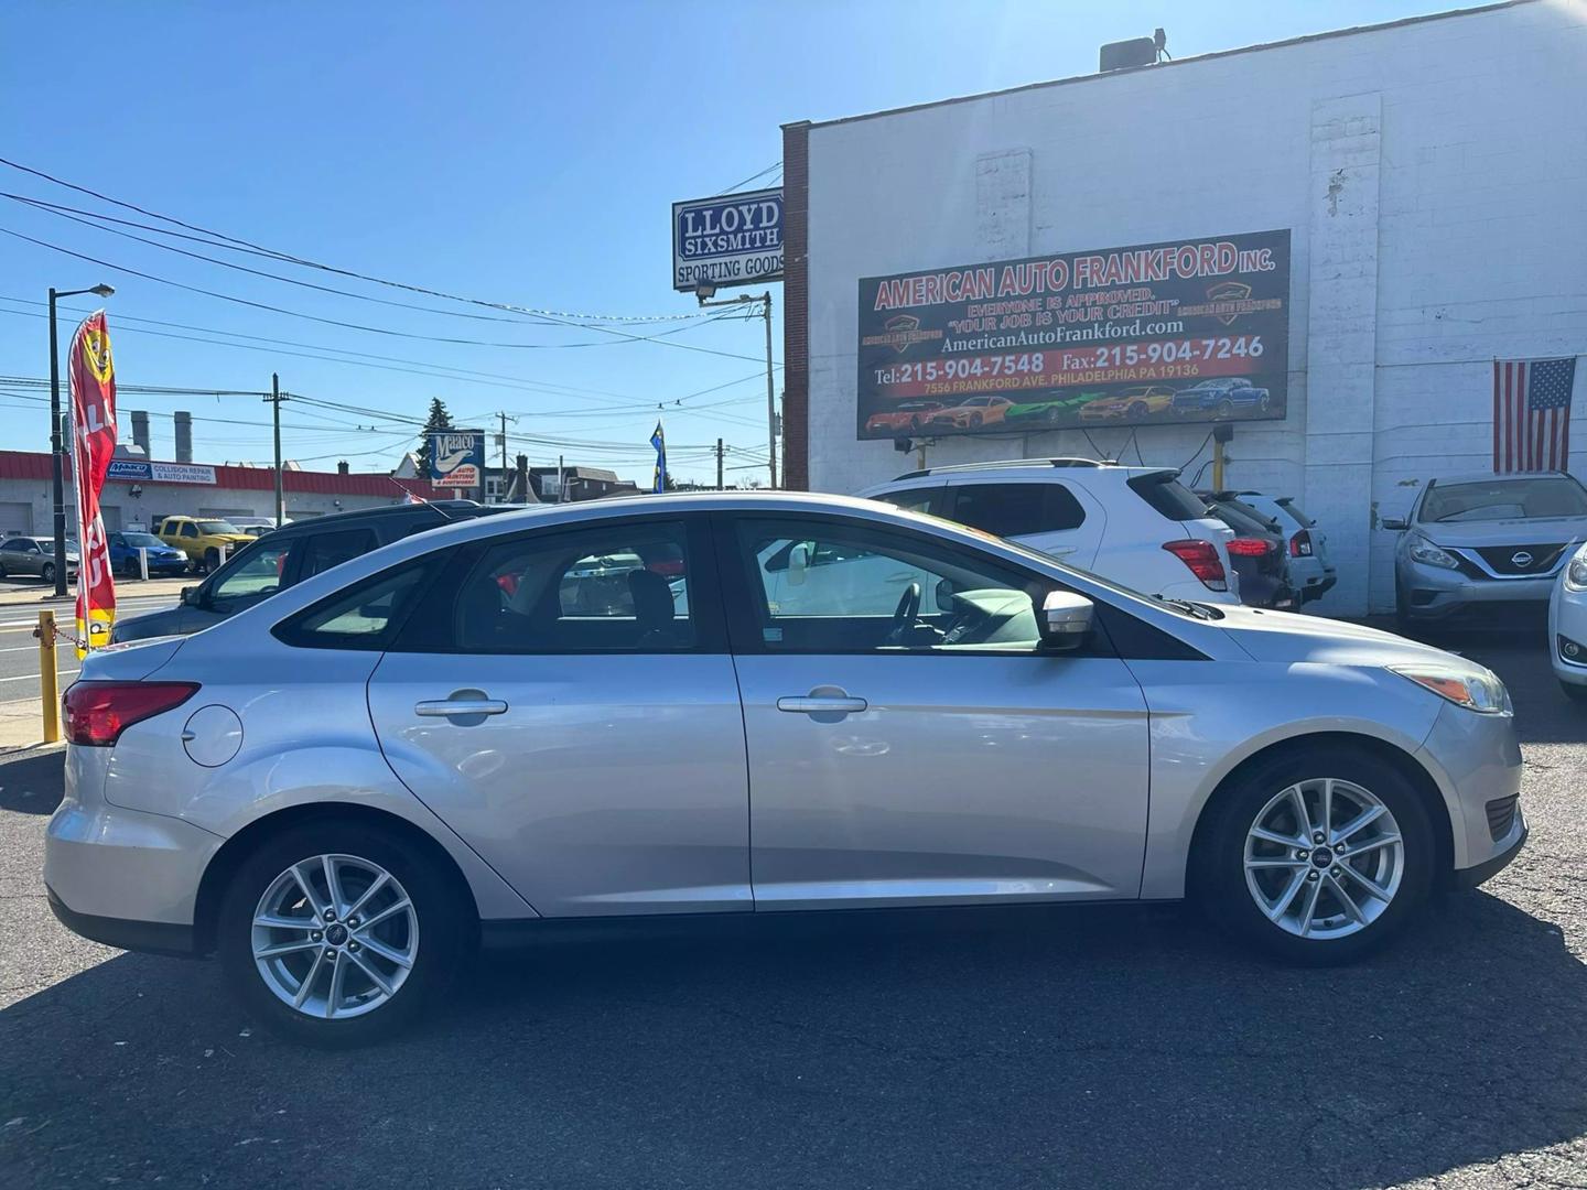
<path fill-rule="evenodd" d="M 252 920 L 265 987 L 308 1017 L 373 1012 L 413 973 L 419 916 L 389 871 L 357 855 L 314 855 L 276 876 Z"/>

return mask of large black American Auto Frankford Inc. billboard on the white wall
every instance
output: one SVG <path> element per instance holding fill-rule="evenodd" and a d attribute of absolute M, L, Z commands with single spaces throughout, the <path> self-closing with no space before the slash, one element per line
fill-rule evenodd
<path fill-rule="evenodd" d="M 859 436 L 1284 417 L 1290 233 L 860 281 Z"/>

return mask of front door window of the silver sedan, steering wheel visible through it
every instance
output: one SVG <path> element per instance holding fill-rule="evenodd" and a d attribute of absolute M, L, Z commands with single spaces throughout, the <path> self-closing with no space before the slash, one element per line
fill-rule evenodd
<path fill-rule="evenodd" d="M 927 538 L 824 519 L 741 520 L 740 560 L 767 652 L 1035 652 L 1043 584 Z"/>

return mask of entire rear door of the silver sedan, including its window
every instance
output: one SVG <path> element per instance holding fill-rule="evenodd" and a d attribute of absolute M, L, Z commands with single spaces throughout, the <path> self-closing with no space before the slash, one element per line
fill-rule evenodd
<path fill-rule="evenodd" d="M 701 517 L 465 547 L 381 660 L 370 714 L 403 782 L 536 912 L 754 908 L 744 720 Z"/>

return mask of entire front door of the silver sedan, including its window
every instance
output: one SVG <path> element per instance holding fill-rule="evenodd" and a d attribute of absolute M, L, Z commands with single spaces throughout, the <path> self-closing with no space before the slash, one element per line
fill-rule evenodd
<path fill-rule="evenodd" d="M 1051 581 L 840 517 L 720 549 L 757 909 L 1139 893 L 1146 700 L 1100 633 L 1043 651 Z"/>

